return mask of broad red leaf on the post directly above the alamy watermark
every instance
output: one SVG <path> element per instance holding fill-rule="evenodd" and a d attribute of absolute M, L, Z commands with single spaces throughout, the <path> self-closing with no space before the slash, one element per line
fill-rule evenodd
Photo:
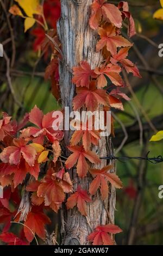
<path fill-rule="evenodd" d="M 95 111 L 99 104 L 108 105 L 106 91 L 96 88 L 96 82 L 91 81 L 90 88 L 79 87 L 76 89 L 77 96 L 73 99 L 74 111 L 86 106 L 87 110 Z"/>

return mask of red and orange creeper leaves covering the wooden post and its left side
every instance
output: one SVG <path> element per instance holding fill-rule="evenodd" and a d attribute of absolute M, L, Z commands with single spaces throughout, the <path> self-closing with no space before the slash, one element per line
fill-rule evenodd
<path fill-rule="evenodd" d="M 129 20 L 128 35 L 133 36 L 134 20 L 129 13 L 127 2 L 120 2 L 116 7 L 104 0 L 93 1 L 89 23 L 99 35 L 96 51 L 102 51 L 104 61 L 93 70 L 86 60 L 72 68 L 72 82 L 76 85 L 74 111 L 84 106 L 87 110 L 96 111 L 99 105 L 103 105 L 106 111 L 111 107 L 123 110 L 120 98 L 129 100 L 129 97 L 120 90 L 126 86 L 121 71 L 125 69 L 134 76 L 141 76 L 136 66 L 127 59 L 132 44 L 121 35 L 122 21 L 126 19 Z M 59 59 L 59 54 L 54 57 L 47 67 L 46 77 L 53 80 L 58 77 Z M 109 81 L 112 83 L 110 93 L 107 91 L 108 88 L 105 88 Z M 54 94 L 58 95 L 57 81 L 54 84 Z M 79 212 L 86 216 L 86 203 L 91 202 L 91 196 L 96 194 L 97 190 L 101 192 L 102 200 L 105 200 L 108 197 L 109 184 L 122 188 L 118 176 L 110 173 L 111 166 L 102 169 L 90 168 L 90 163 L 101 163 L 99 157 L 91 151 L 92 144 L 98 146 L 101 139 L 100 131 L 90 131 L 87 122 L 85 130 L 82 130 L 82 125 L 79 124 L 68 147 L 72 154 L 64 162 L 60 146 L 64 132 L 55 132 L 52 129 L 54 120 L 53 112 L 43 115 L 36 106 L 19 124 L 12 121 L 6 113 L 3 113 L 3 119 L 0 120 L 0 182 L 5 187 L 7 195 L 7 199 L 0 199 L 0 222 L 4 223 L 0 239 L 9 244 L 14 244 L 15 241 L 15 235 L 8 233 L 10 222 L 15 216 L 17 222 L 21 217 L 21 212 L 17 212 L 16 207 L 20 202 L 20 188 L 30 192 L 31 207 L 23 220 L 24 233 L 17 237 L 16 245 L 29 244 L 35 234 L 45 239 L 45 225 L 50 224 L 51 220 L 43 210 L 51 209 L 58 212 L 61 204 L 65 202 L 66 193 L 72 193 L 66 202 L 67 209 L 77 206 Z M 28 121 L 32 126 L 26 127 Z M 24 126 L 26 128 L 23 129 Z M 89 191 L 78 187 L 73 193 L 73 182 L 66 170 L 75 166 L 80 178 L 84 178 L 87 172 L 92 175 Z M 42 169 L 47 169 L 46 174 L 42 173 Z M 27 174 L 30 174 L 30 178 Z M 9 202 L 12 203 L 12 211 Z M 114 224 L 101 225 L 87 239 L 93 245 L 112 245 L 114 242 L 110 234 L 121 231 Z"/>

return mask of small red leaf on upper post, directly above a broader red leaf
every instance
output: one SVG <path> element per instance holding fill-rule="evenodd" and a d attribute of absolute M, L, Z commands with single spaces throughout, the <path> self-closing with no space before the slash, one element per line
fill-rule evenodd
<path fill-rule="evenodd" d="M 89 87 L 90 77 L 95 77 L 95 73 L 91 70 L 89 63 L 86 61 L 80 62 L 80 66 L 74 66 L 73 68 L 72 82 L 77 87 Z"/>

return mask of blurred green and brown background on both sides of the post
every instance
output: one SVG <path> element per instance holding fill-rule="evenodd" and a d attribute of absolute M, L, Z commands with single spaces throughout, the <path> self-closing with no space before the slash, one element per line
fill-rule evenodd
<path fill-rule="evenodd" d="M 163 155 L 162 141 L 149 142 L 156 130 L 163 130 L 163 57 L 158 56 L 158 45 L 163 44 L 163 20 L 153 19 L 160 2 L 128 2 L 137 29 L 131 39 L 134 47 L 130 59 L 139 67 L 142 79 L 129 75 L 126 93 L 131 101 L 124 102 L 124 112 L 112 109 L 117 117 L 113 143 L 117 156 L 145 157 L 150 151 L 149 156 L 154 157 Z M 60 102 L 52 94 L 51 82 L 44 79 L 51 46 L 41 50 L 45 34 L 40 27 L 24 33 L 23 19 L 8 11 L 13 3 L 0 2 L 0 42 L 4 45 L 0 109 L 20 120 L 34 105 L 47 113 L 58 109 Z M 59 1 L 47 0 L 44 8 L 49 28 L 55 30 Z M 123 33 L 127 36 L 126 29 Z M 116 237 L 118 245 L 163 245 L 163 199 L 158 197 L 158 187 L 163 185 L 162 167 L 162 163 L 148 161 L 117 161 L 117 173 L 124 184 L 123 190 L 117 191 L 115 223 L 123 229 Z"/>

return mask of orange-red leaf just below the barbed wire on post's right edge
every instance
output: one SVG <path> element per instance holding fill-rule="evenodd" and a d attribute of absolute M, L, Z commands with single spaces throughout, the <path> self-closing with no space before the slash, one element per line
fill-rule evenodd
<path fill-rule="evenodd" d="M 100 188 L 102 199 L 104 200 L 109 194 L 108 181 L 116 188 L 122 188 L 120 178 L 114 173 L 108 173 L 108 170 L 110 169 L 111 166 L 105 166 L 102 169 L 89 169 L 89 172 L 92 175 L 96 175 L 96 178 L 92 181 L 89 189 L 92 196 L 97 192 L 98 188 Z"/>

